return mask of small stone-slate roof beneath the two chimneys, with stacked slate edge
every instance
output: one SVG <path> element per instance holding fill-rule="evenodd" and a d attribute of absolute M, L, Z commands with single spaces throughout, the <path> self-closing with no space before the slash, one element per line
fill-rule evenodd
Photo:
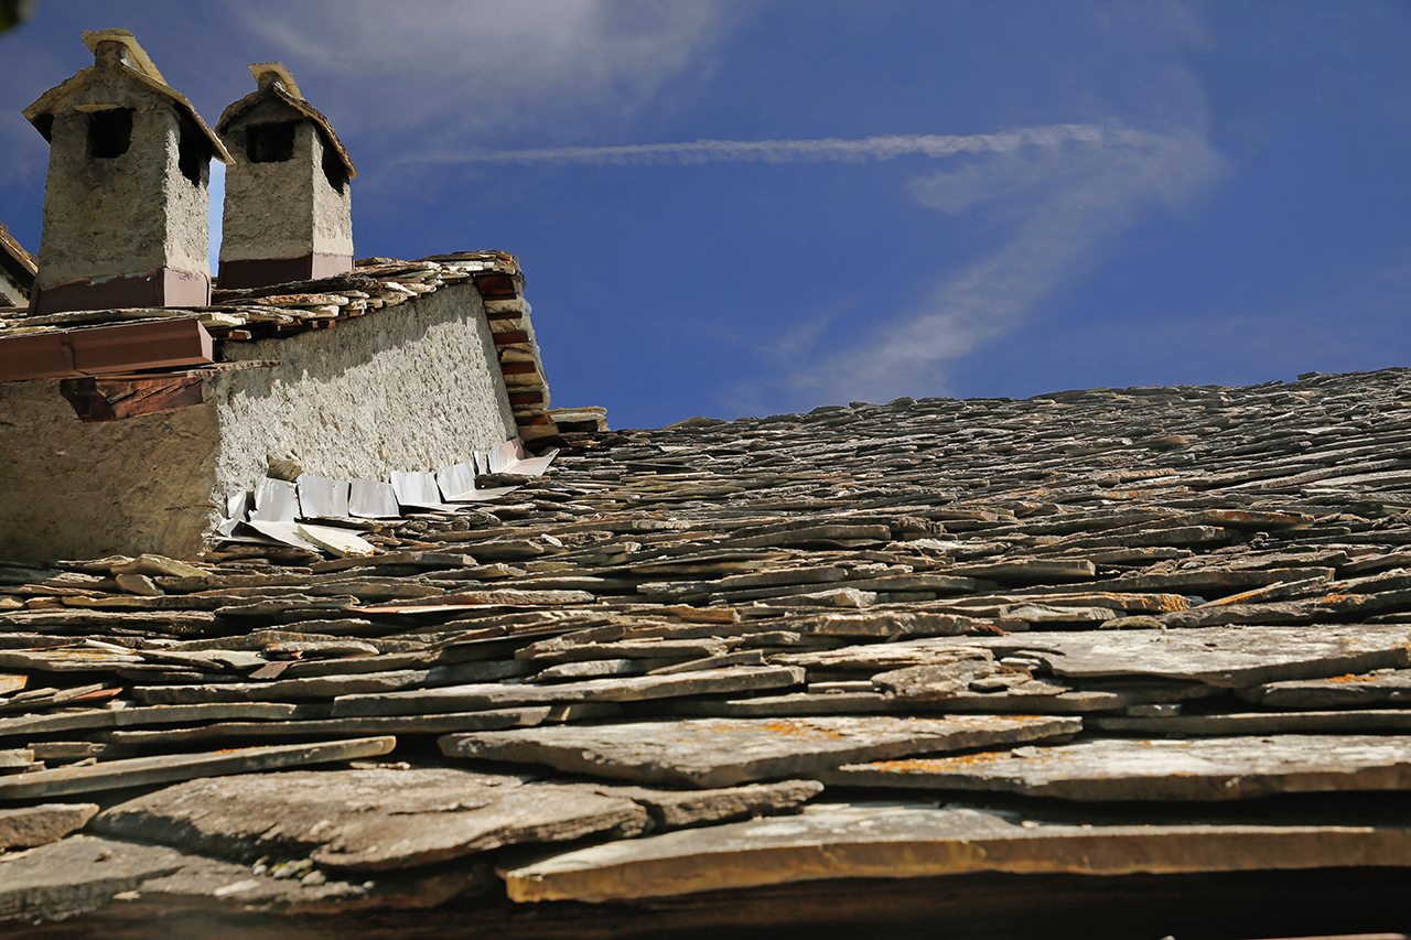
<path fill-rule="evenodd" d="M 521 438 L 536 440 L 555 433 L 547 416 L 549 385 L 539 344 L 523 299 L 519 260 L 504 251 L 460 251 L 420 261 L 363 258 L 353 271 L 317 281 L 212 292 L 212 306 L 73 311 L 31 315 L 25 308 L 0 306 L 0 343 L 7 337 L 63 333 L 116 323 L 195 319 L 216 340 L 240 343 L 293 336 L 310 329 L 333 329 L 341 320 L 392 308 L 432 294 L 440 287 L 476 281 L 495 336 L 499 368 Z M 181 367 L 181 371 L 190 371 Z"/>

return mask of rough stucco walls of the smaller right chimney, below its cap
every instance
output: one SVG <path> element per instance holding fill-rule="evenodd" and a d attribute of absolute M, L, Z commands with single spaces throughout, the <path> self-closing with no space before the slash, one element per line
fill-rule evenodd
<path fill-rule="evenodd" d="M 302 258 L 309 253 L 353 254 L 350 186 L 337 192 L 323 175 L 323 138 L 295 112 L 265 120 L 301 119 L 293 157 L 277 164 L 251 164 L 246 157 L 250 123 L 227 131 L 234 165 L 226 171 L 226 205 L 220 260 Z"/>

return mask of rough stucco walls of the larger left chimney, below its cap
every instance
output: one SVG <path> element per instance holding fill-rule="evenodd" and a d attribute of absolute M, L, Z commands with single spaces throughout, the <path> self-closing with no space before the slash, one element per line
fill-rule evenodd
<path fill-rule="evenodd" d="M 133 137 L 120 157 L 89 157 L 87 114 L 55 114 L 40 285 L 159 267 L 206 271 L 210 167 L 207 161 L 200 185 L 182 176 L 171 103 L 104 75 L 66 104 L 133 107 Z"/>

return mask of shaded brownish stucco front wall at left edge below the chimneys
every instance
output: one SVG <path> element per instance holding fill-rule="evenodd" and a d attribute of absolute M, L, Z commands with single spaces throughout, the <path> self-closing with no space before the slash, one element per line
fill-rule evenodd
<path fill-rule="evenodd" d="M 0 559 L 193 556 L 217 429 L 210 405 L 85 425 L 58 381 L 0 382 Z"/>

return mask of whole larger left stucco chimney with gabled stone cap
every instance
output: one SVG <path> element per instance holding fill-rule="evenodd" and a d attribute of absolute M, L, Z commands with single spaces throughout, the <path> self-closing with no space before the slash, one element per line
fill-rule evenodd
<path fill-rule="evenodd" d="M 127 30 L 24 116 L 49 141 L 35 313 L 210 302 L 210 158 L 230 162 Z"/>

